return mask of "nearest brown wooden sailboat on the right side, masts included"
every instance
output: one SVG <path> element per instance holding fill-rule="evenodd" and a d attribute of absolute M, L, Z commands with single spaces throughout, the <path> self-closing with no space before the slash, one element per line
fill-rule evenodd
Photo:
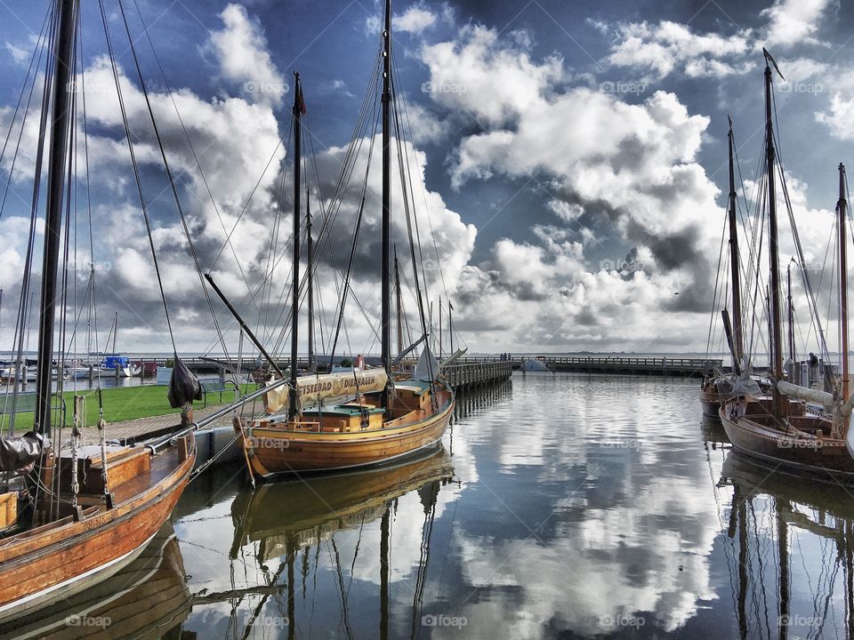
<path fill-rule="evenodd" d="M 727 392 L 720 417 L 729 440 L 740 452 L 814 473 L 822 480 L 854 481 L 854 459 L 845 445 L 845 431 L 851 412 L 848 376 L 847 264 L 845 215 L 845 169 L 839 165 L 839 244 L 842 329 L 842 380 L 834 393 L 804 388 L 785 380 L 783 367 L 782 309 L 779 250 L 777 244 L 777 199 L 775 192 L 776 149 L 772 127 L 771 69 L 774 64 L 765 52 L 766 164 L 769 211 L 770 260 L 770 339 L 773 382 L 770 394 L 749 381 L 737 380 Z M 775 68 L 777 65 L 774 65 Z M 794 231 L 794 229 L 793 229 Z M 824 408 L 819 409 L 817 405 Z"/>

